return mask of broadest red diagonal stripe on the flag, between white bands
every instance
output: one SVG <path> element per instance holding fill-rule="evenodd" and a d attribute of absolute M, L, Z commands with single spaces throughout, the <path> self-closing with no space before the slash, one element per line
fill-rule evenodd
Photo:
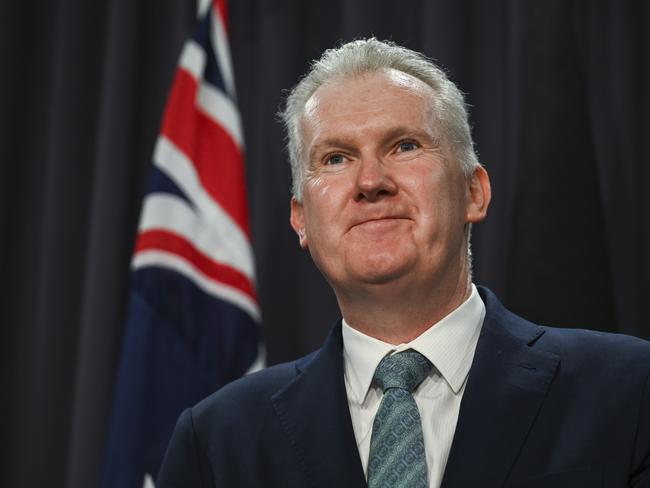
<path fill-rule="evenodd" d="M 196 80 L 176 72 L 162 134 L 193 162 L 205 190 L 250 236 L 244 158 L 221 125 L 196 107 Z"/>

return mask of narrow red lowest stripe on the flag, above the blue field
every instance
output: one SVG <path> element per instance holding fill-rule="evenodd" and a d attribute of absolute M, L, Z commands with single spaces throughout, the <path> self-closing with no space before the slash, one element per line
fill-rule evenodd
<path fill-rule="evenodd" d="M 235 268 L 209 258 L 187 239 L 165 230 L 149 230 L 138 236 L 134 255 L 141 251 L 167 251 L 192 263 L 195 268 L 214 281 L 237 288 L 257 302 L 257 294 L 250 280 Z"/>

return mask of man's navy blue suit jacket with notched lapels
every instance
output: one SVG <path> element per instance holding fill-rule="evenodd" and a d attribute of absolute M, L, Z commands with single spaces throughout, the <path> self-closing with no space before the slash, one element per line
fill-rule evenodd
<path fill-rule="evenodd" d="M 443 488 L 650 487 L 650 343 L 486 317 Z M 181 415 L 157 488 L 364 487 L 340 325 Z"/>

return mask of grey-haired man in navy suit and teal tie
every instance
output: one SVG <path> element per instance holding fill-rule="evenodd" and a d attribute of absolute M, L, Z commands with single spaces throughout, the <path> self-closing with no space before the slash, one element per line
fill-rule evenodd
<path fill-rule="evenodd" d="M 351 42 L 283 116 L 291 225 L 343 319 L 185 411 L 157 486 L 650 487 L 650 345 L 532 324 L 471 282 L 490 183 L 444 73 Z"/>

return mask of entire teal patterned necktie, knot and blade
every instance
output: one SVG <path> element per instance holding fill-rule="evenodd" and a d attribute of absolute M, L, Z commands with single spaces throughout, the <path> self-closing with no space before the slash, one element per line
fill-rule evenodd
<path fill-rule="evenodd" d="M 426 488 L 422 423 L 412 392 L 431 367 L 413 349 L 386 356 L 377 366 L 374 381 L 384 397 L 372 426 L 369 488 Z"/>

